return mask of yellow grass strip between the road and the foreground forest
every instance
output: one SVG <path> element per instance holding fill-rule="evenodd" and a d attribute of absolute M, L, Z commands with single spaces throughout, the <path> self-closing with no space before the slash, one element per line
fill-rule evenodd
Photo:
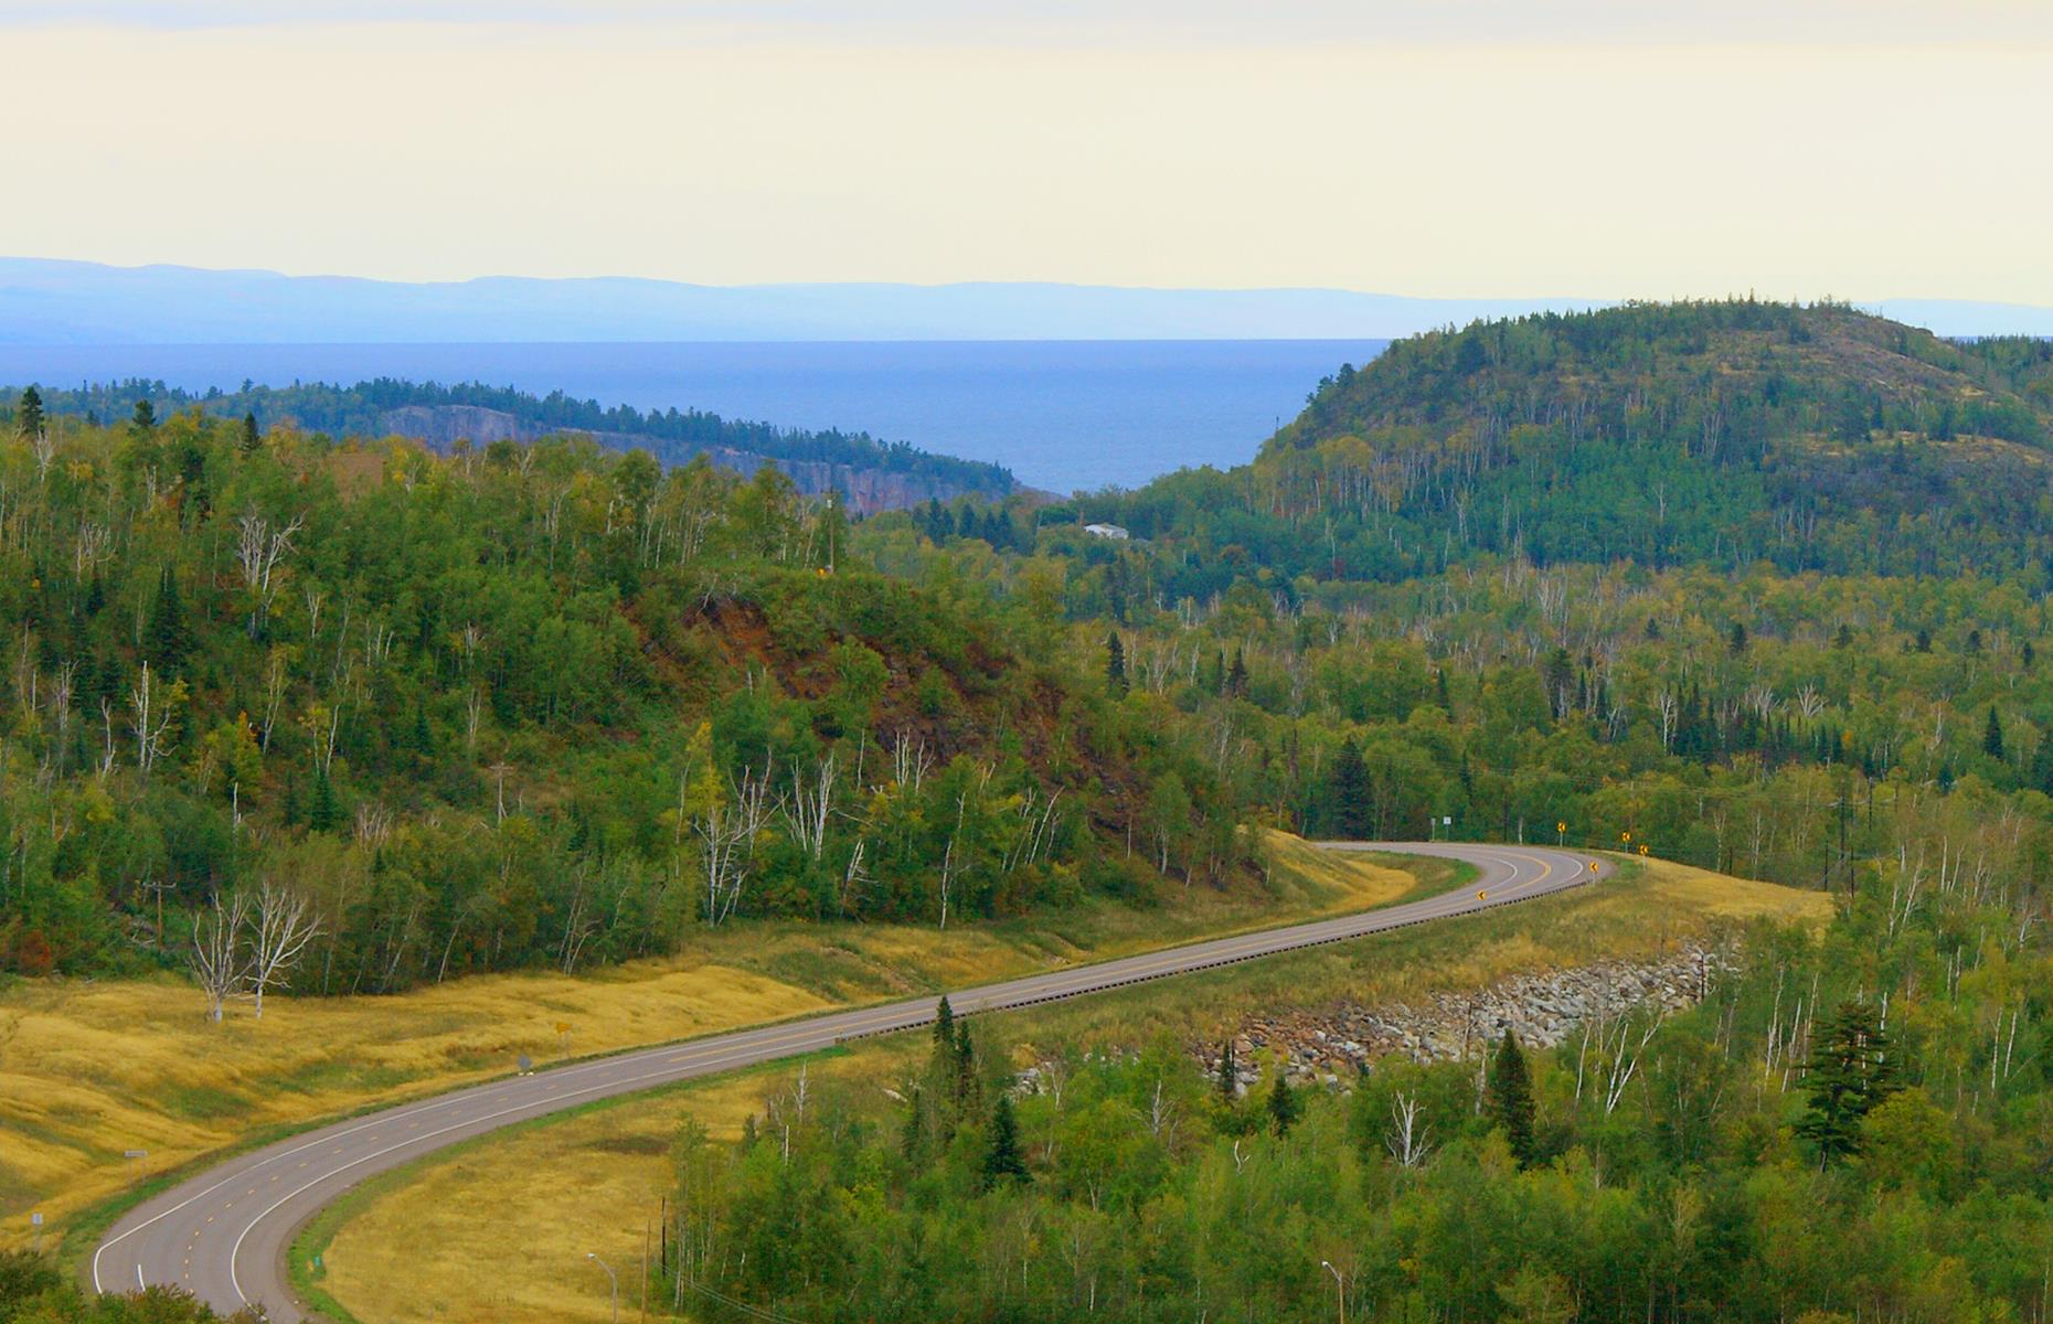
<path fill-rule="evenodd" d="M 1829 907 L 1823 893 L 1630 860 L 1597 889 L 987 1016 L 979 1035 L 985 1045 L 1018 1045 L 1022 1057 L 1033 1055 L 1029 1041 L 1217 1039 L 1254 1010 L 1478 987 L 1515 971 L 1653 955 L 1720 922 L 1823 922 Z M 897 1035 L 815 1057 L 807 1069 L 815 1086 L 877 1090 L 924 1051 L 922 1035 Z M 797 1063 L 774 1063 L 692 1082 L 423 1160 L 331 1209 L 302 1238 L 296 1271 L 304 1287 L 345 1308 L 339 1318 L 604 1324 L 606 1275 L 585 1254 L 620 1271 L 622 1308 L 634 1312 L 634 1267 L 645 1223 L 669 1189 L 665 1156 L 680 1117 L 737 1135 L 795 1072 Z M 507 1254 L 509 1244 L 519 1254 Z M 314 1254 L 322 1269 L 308 1273 Z"/>

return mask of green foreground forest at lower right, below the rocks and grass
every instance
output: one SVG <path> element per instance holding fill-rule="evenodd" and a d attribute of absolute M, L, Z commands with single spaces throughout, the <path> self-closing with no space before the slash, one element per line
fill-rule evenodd
<path fill-rule="evenodd" d="M 901 1102 L 686 1123 L 657 1299 L 743 1320 L 2045 1320 L 2053 961 L 2022 889 L 1864 881 L 1696 1008 L 1236 1096 L 1185 1045 L 936 1024 Z M 811 1094 L 811 1096 L 809 1096 Z"/>

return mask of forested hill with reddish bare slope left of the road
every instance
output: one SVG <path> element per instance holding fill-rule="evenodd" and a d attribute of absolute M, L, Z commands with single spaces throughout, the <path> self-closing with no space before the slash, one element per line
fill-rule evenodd
<path fill-rule="evenodd" d="M 183 963 L 267 889 L 287 987 L 376 991 L 1234 877 L 1213 764 L 1053 612 L 875 573 L 774 468 L 16 411 L 0 963 Z"/>

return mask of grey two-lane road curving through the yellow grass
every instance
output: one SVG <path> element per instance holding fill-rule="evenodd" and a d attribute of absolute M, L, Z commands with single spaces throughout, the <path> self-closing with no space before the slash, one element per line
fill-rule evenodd
<path fill-rule="evenodd" d="M 1020 1008 L 1445 920 L 1595 879 L 1587 856 L 1564 850 L 1425 842 L 1328 842 L 1326 846 L 1445 856 L 1474 864 L 1480 877 L 1470 887 L 1406 905 L 1026 975 L 953 991 L 948 998 L 957 1012 Z M 131 1291 L 150 1283 L 172 1283 L 224 1314 L 263 1303 L 271 1320 L 304 1320 L 308 1316 L 285 1287 L 285 1254 L 292 1238 L 314 1213 L 361 1180 L 443 1145 L 595 1098 L 811 1053 L 844 1039 L 907 1030 L 934 1018 L 934 998 L 914 998 L 636 1049 L 470 1086 L 306 1131 L 230 1158 L 131 1209 L 94 1250 L 92 1285 L 96 1291 Z"/>

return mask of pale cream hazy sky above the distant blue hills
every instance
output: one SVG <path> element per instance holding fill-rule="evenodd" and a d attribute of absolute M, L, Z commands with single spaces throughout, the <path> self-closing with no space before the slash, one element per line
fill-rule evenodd
<path fill-rule="evenodd" d="M 2053 304 L 2039 0 L 0 0 L 0 252 Z"/>

